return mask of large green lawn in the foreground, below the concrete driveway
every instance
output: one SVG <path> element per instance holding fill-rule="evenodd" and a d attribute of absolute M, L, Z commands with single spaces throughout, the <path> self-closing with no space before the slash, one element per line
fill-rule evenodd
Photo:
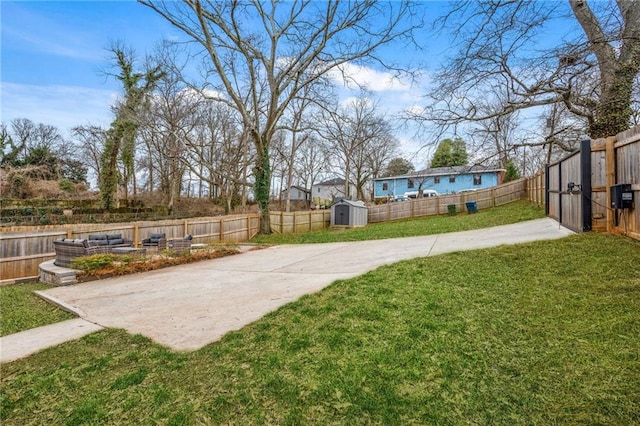
<path fill-rule="evenodd" d="M 0 367 L 3 425 L 640 424 L 640 244 L 404 261 L 175 353 L 105 330 Z"/>

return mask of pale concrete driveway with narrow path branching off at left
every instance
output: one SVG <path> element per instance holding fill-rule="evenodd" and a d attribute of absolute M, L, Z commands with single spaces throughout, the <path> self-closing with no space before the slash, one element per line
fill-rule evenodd
<path fill-rule="evenodd" d="M 236 256 L 38 292 L 80 319 L 0 339 L 7 362 L 102 327 L 139 333 L 175 350 L 199 349 L 304 294 L 381 265 L 446 252 L 565 237 L 552 219 L 424 237 L 283 245 Z M 78 321 L 84 321 L 80 323 Z M 71 324 L 70 322 L 66 322 Z M 88 326 L 87 324 L 91 324 Z M 21 342 L 24 342 L 22 344 Z M 30 342 L 29 345 L 26 342 Z M 24 346 L 24 350 L 20 347 Z"/>

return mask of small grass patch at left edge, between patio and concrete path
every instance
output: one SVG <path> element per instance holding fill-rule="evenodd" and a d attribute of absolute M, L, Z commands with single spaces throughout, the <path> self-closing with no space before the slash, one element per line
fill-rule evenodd
<path fill-rule="evenodd" d="M 46 288 L 41 283 L 0 287 L 0 336 L 74 318 L 33 294 Z"/>

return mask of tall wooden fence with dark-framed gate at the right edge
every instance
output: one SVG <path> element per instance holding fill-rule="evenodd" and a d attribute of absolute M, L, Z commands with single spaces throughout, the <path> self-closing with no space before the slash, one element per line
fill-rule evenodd
<path fill-rule="evenodd" d="M 611 208 L 611 187 L 629 184 L 632 208 Z M 640 240 L 640 126 L 585 140 L 580 149 L 527 179 L 527 198 L 577 232 L 624 234 Z M 543 197 L 544 195 L 544 197 Z"/>

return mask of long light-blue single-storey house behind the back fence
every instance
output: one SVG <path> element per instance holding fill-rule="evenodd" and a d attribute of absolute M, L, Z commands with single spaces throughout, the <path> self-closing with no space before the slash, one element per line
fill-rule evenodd
<path fill-rule="evenodd" d="M 455 194 L 500 185 L 504 174 L 504 169 L 478 165 L 436 167 L 405 176 L 374 179 L 373 195 L 375 199 L 391 198 L 421 189 L 435 190 L 439 194 Z"/>

